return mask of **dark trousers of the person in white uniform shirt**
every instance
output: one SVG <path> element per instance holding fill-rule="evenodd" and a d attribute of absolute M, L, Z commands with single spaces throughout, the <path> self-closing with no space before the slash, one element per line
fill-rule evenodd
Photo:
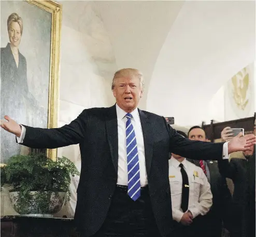
<path fill-rule="evenodd" d="M 197 216 L 193 219 L 193 223 L 190 226 L 183 226 L 181 223 L 174 223 L 173 236 L 175 237 L 205 237 L 207 236 L 207 230 L 205 228 L 206 218 L 205 216 Z"/>

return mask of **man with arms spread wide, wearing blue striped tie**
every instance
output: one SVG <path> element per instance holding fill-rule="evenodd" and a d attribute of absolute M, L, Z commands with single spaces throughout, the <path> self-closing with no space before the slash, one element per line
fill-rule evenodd
<path fill-rule="evenodd" d="M 229 144 L 190 141 L 165 118 L 139 110 L 143 75 L 122 69 L 112 81 L 116 105 L 84 109 L 58 129 L 20 125 L 5 116 L 1 127 L 32 148 L 80 145 L 81 175 L 75 219 L 83 236 L 168 236 L 172 202 L 168 180 L 169 152 L 191 159 L 227 158 L 255 143 L 236 136 Z M 222 157 L 223 156 L 223 157 Z"/>

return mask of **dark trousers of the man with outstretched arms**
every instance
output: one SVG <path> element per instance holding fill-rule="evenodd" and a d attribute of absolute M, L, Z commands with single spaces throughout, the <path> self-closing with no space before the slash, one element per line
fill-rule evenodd
<path fill-rule="evenodd" d="M 127 187 L 117 185 L 103 226 L 93 237 L 160 237 L 155 224 L 148 187 L 133 201 Z"/>

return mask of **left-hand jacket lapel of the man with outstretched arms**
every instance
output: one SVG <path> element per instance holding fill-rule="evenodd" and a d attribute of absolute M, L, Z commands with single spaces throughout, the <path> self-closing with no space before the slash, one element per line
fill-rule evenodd
<path fill-rule="evenodd" d="M 118 125 L 116 105 L 106 114 L 106 130 L 113 165 L 118 173 Z"/>

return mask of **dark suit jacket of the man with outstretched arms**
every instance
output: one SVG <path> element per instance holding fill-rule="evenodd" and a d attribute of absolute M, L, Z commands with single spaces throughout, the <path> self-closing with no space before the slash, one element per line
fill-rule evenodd
<path fill-rule="evenodd" d="M 149 195 L 162 235 L 172 231 L 172 202 L 168 179 L 169 152 L 191 159 L 222 159 L 223 144 L 183 138 L 164 117 L 139 110 L 143 129 Z M 77 119 L 58 129 L 26 127 L 23 145 L 58 148 L 80 145 L 81 175 L 75 219 L 84 235 L 103 224 L 118 175 L 118 124 L 116 106 L 84 109 Z"/>

